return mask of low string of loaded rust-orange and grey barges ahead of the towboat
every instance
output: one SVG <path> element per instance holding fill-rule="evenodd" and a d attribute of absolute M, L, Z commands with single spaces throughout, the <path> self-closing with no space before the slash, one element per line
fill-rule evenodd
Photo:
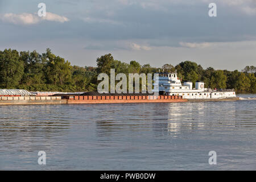
<path fill-rule="evenodd" d="M 1 92 L 2 91 L 2 92 Z M 51 94 L 42 96 L 22 90 L 0 89 L 0 105 L 34 104 L 112 104 L 112 103 L 151 103 L 151 102 L 187 102 L 182 96 L 154 96 L 149 94 L 100 94 L 86 92 L 82 94 Z"/>

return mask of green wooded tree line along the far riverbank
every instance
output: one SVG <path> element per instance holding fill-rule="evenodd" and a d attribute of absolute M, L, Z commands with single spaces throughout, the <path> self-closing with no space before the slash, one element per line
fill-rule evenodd
<path fill-rule="evenodd" d="M 256 67 L 246 66 L 242 71 L 203 69 L 193 61 L 182 61 L 177 65 L 164 64 L 162 67 L 141 65 L 138 61 L 124 63 L 115 60 L 109 53 L 98 57 L 97 67 L 71 65 L 63 57 L 54 55 L 50 49 L 40 54 L 36 51 L 0 51 L 0 88 L 26 89 L 30 91 L 85 92 L 97 90 L 99 73 L 110 75 L 125 73 L 177 72 L 182 81 L 200 80 L 206 88 L 236 89 L 238 93 L 256 93 Z"/>

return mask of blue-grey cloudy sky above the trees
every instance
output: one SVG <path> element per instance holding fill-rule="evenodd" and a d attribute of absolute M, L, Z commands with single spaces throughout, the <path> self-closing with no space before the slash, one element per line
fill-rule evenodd
<path fill-rule="evenodd" d="M 46 16 L 38 16 L 39 3 Z M 216 3 L 217 16 L 208 14 Z M 162 67 L 190 60 L 256 65 L 256 0 L 0 0 L 0 49 L 45 52 L 72 65 L 114 59 Z"/>

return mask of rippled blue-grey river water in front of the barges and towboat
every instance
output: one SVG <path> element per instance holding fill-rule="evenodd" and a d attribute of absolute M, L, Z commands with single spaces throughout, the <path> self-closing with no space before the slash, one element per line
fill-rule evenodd
<path fill-rule="evenodd" d="M 0 169 L 255 170 L 256 94 L 240 97 L 0 106 Z M 46 165 L 38 164 L 39 151 Z M 209 151 L 217 164 L 209 164 Z"/>

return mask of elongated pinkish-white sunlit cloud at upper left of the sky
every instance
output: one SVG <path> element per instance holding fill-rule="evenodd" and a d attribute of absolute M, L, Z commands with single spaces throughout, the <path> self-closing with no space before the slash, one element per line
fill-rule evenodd
<path fill-rule="evenodd" d="M 60 16 L 53 13 L 46 13 L 46 16 L 39 17 L 37 14 L 31 14 L 31 13 L 22 13 L 22 14 L 14 14 L 14 13 L 7 13 L 3 14 L 0 17 L 0 20 L 3 22 L 9 22 L 13 24 L 36 24 L 39 23 L 42 20 L 48 20 L 48 21 L 55 21 L 55 22 L 68 22 L 69 19 L 65 16 Z"/>

